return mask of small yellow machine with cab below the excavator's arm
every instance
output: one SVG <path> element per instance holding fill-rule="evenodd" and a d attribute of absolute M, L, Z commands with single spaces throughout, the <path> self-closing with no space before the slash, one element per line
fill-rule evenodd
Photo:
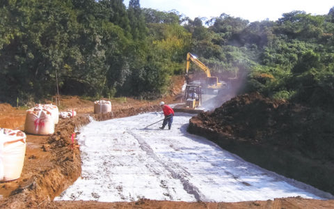
<path fill-rule="evenodd" d="M 184 100 L 186 102 L 186 107 L 191 109 L 200 107 L 202 101 L 202 88 L 200 86 L 186 85 Z"/>

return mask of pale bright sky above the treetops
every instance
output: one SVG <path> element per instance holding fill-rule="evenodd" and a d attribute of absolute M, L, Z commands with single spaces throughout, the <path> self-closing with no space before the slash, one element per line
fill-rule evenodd
<path fill-rule="evenodd" d="M 124 0 L 129 6 L 129 0 Z M 141 8 L 153 8 L 179 13 L 194 19 L 195 17 L 219 17 L 222 13 L 232 17 L 241 17 L 250 22 L 276 21 L 283 13 L 303 10 L 311 15 L 326 15 L 334 6 L 333 0 L 141 0 Z"/>

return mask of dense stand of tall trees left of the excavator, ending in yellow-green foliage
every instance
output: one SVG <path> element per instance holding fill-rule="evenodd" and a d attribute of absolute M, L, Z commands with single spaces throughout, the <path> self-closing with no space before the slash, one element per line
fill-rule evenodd
<path fill-rule="evenodd" d="M 159 17 L 138 0 L 129 8 L 122 0 L 8 0 L 0 14 L 2 102 L 55 95 L 57 83 L 62 94 L 154 98 L 182 71 L 191 40 L 177 15 Z"/>

